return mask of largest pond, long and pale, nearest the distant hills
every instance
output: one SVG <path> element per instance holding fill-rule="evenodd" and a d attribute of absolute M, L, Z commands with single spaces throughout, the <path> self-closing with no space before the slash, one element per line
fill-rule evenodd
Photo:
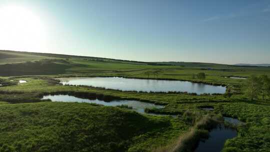
<path fill-rule="evenodd" d="M 123 91 L 225 93 L 226 87 L 180 80 L 156 80 L 123 77 L 68 77 L 57 78 L 63 85 L 87 85 Z"/>

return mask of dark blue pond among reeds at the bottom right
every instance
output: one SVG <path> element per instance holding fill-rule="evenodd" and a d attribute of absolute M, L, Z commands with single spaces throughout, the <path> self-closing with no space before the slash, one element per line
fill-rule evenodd
<path fill-rule="evenodd" d="M 237 131 L 233 128 L 225 127 L 219 124 L 209 132 L 209 137 L 201 140 L 195 149 L 195 152 L 220 152 L 227 139 L 233 138 L 237 135 Z"/>

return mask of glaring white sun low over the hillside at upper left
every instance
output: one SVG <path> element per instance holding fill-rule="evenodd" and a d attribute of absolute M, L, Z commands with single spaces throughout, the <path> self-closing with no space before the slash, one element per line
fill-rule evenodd
<path fill-rule="evenodd" d="M 0 7 L 0 49 L 39 51 L 46 39 L 41 20 L 25 7 Z"/>

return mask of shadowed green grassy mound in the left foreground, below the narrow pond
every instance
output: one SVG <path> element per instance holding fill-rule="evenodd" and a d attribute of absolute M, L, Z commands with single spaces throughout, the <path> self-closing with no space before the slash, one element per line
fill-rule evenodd
<path fill-rule="evenodd" d="M 6 104 L 0 111 L 0 146 L 14 151 L 125 151 L 132 140 L 172 130 L 168 117 L 88 103 Z"/>

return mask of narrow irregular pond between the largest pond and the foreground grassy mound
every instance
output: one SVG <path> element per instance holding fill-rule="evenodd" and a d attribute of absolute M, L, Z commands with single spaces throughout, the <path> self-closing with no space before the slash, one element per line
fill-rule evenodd
<path fill-rule="evenodd" d="M 51 101 L 63 101 L 63 102 L 87 102 L 87 103 L 97 103 L 105 106 L 116 106 L 116 105 L 128 105 L 132 106 L 132 110 L 139 113 L 145 113 L 145 108 L 163 108 L 163 105 L 157 105 L 153 103 L 141 102 L 136 100 L 112 100 L 105 102 L 99 99 L 86 99 L 79 98 L 71 95 L 44 95 L 41 99 L 50 99 Z M 158 114 L 156 114 L 158 115 Z"/>

